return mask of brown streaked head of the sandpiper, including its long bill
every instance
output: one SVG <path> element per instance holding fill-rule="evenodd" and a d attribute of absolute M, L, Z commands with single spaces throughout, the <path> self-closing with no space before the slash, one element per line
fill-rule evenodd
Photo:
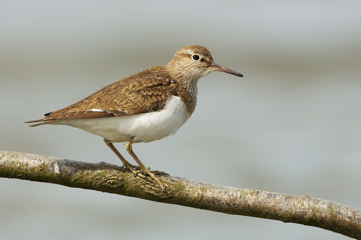
<path fill-rule="evenodd" d="M 167 64 L 167 68 L 172 77 L 195 82 L 214 71 L 243 77 L 238 72 L 214 63 L 208 49 L 201 45 L 190 45 L 179 49 Z"/>

